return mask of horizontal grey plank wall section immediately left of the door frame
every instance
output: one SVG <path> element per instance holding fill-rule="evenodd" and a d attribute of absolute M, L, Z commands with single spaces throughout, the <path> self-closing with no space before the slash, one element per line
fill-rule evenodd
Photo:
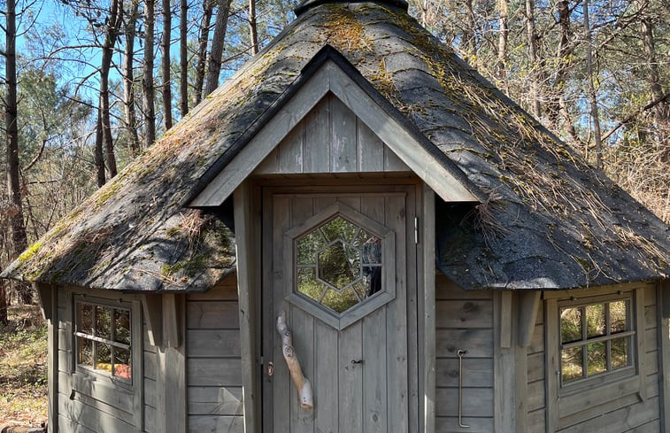
<path fill-rule="evenodd" d="M 235 276 L 186 300 L 189 431 L 243 433 L 240 323 Z"/>

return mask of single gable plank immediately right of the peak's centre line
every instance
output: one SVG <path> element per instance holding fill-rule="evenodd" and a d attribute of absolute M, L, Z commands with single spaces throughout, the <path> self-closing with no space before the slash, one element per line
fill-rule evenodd
<path fill-rule="evenodd" d="M 356 115 L 338 98 L 331 99 L 332 121 L 330 171 L 333 173 L 356 171 Z"/>

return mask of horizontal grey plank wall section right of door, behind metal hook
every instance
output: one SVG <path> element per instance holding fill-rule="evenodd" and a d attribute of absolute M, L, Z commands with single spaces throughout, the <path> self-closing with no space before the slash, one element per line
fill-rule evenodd
<path fill-rule="evenodd" d="M 493 431 L 492 292 L 465 291 L 435 278 L 435 431 Z M 458 427 L 458 350 L 463 357 L 463 423 Z"/>

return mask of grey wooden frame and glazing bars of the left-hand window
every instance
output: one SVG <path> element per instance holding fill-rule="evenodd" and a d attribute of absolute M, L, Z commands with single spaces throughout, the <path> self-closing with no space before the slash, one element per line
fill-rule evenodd
<path fill-rule="evenodd" d="M 122 344 L 110 339 L 96 336 L 95 329 L 94 335 L 90 335 L 87 332 L 82 332 L 80 327 L 80 309 L 79 305 L 93 305 L 101 306 L 104 308 L 109 308 L 112 310 L 112 316 L 114 310 L 125 310 L 128 312 L 130 318 L 130 344 Z M 97 298 L 89 297 L 86 295 L 74 295 L 73 296 L 73 372 L 81 373 L 83 375 L 94 375 L 96 379 L 103 379 L 113 383 L 114 385 L 121 386 L 127 390 L 133 390 L 136 384 L 136 375 L 140 373 L 140 368 L 137 366 L 138 362 L 142 361 L 142 336 L 138 335 L 138 327 L 142 329 L 141 321 L 138 325 L 139 316 L 139 306 L 136 305 L 136 302 L 126 301 L 122 299 L 107 299 L 107 298 Z M 95 308 L 94 308 L 95 312 Z M 114 327 L 112 327 L 113 329 Z M 110 338 L 113 338 L 113 332 L 110 331 Z M 141 332 L 141 330 L 140 330 Z M 125 379 L 117 375 L 112 374 L 112 370 L 106 371 L 105 369 L 89 367 L 85 364 L 81 364 L 79 360 L 80 353 L 80 338 L 88 339 L 92 342 L 110 344 L 111 346 L 118 346 L 121 349 L 126 349 L 129 353 L 130 358 L 130 378 Z M 95 354 L 94 354 L 95 357 Z M 110 352 L 111 367 L 113 366 L 113 352 Z M 95 362 L 95 360 L 94 360 Z"/>

